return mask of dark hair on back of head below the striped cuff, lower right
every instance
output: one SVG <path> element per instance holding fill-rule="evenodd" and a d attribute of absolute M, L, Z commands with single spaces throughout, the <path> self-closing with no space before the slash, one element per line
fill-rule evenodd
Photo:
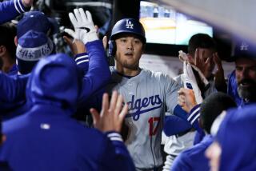
<path fill-rule="evenodd" d="M 200 119 L 202 121 L 202 128 L 210 133 L 210 127 L 214 119 L 218 117 L 223 110 L 237 107 L 233 98 L 226 93 L 212 93 L 202 101 L 200 109 Z"/>

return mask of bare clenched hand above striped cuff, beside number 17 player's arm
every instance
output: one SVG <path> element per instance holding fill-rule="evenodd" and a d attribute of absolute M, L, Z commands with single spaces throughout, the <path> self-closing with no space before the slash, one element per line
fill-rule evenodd
<path fill-rule="evenodd" d="M 182 106 L 182 109 L 189 113 L 190 110 L 197 105 L 194 97 L 194 90 L 181 88 L 178 90 L 178 105 Z"/>

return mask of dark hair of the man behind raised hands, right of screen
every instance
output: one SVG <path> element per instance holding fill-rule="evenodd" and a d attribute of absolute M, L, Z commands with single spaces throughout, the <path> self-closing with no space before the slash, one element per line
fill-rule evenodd
<path fill-rule="evenodd" d="M 208 34 L 194 34 L 189 41 L 188 53 L 194 55 L 197 48 L 216 50 L 216 43 Z"/>

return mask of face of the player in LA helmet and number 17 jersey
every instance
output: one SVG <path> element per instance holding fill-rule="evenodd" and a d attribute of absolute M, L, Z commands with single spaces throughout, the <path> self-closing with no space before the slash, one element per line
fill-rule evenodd
<path fill-rule="evenodd" d="M 117 38 L 115 42 L 117 45 L 116 62 L 127 69 L 138 70 L 139 59 L 143 53 L 142 41 L 128 34 Z"/>

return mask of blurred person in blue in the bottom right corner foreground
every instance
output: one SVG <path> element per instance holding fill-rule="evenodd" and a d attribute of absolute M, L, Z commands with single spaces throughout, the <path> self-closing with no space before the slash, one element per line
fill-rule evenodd
<path fill-rule="evenodd" d="M 227 111 L 214 143 L 206 150 L 211 170 L 256 169 L 255 111 L 255 105 Z"/>

